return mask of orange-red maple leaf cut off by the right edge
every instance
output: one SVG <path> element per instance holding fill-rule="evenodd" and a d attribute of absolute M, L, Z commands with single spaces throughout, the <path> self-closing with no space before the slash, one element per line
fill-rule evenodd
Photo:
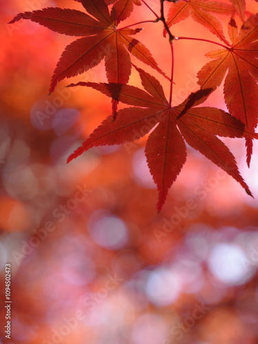
<path fill-rule="evenodd" d="M 232 45 L 206 54 L 216 59 L 206 63 L 198 72 L 198 83 L 202 88 L 216 89 L 228 71 L 224 82 L 228 111 L 248 129 L 254 130 L 258 115 L 258 14 L 248 18 L 239 32 L 235 20 L 230 19 L 228 33 Z M 249 166 L 252 155 L 250 138 L 246 139 L 246 147 Z"/>

